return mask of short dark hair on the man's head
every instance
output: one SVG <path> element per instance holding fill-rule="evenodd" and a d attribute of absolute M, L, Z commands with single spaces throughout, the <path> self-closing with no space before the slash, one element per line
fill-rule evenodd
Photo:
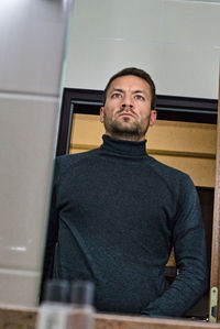
<path fill-rule="evenodd" d="M 154 85 L 154 81 L 152 80 L 151 76 L 143 69 L 141 68 L 136 68 L 136 67 L 127 67 L 127 68 L 123 68 L 122 70 L 118 72 L 117 74 L 114 74 L 108 81 L 105 90 L 103 90 L 103 105 L 106 103 L 106 100 L 107 100 L 107 91 L 109 89 L 109 86 L 111 85 L 111 83 L 119 78 L 119 77 L 123 77 L 123 76 L 136 76 L 139 78 L 142 78 L 144 79 L 148 85 L 150 85 L 150 88 L 151 88 L 151 97 L 152 97 L 152 100 L 151 100 L 151 109 L 155 109 L 156 107 L 156 88 L 155 88 L 155 85 Z"/>

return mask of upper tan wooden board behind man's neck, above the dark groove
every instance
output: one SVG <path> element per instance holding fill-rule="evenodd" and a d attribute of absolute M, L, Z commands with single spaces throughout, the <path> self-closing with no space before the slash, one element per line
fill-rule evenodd
<path fill-rule="evenodd" d="M 146 135 L 147 150 L 198 154 L 213 158 L 216 132 L 216 124 L 156 121 Z M 102 142 L 103 133 L 103 124 L 99 122 L 98 116 L 74 116 L 72 144 L 98 146 Z"/>

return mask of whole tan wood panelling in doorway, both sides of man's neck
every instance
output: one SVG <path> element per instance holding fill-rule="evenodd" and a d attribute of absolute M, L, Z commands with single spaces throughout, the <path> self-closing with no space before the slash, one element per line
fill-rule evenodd
<path fill-rule="evenodd" d="M 158 161 L 187 173 L 196 186 L 215 186 L 215 124 L 157 121 L 147 132 L 147 152 Z M 98 116 L 75 114 L 69 153 L 80 153 L 102 143 Z"/>

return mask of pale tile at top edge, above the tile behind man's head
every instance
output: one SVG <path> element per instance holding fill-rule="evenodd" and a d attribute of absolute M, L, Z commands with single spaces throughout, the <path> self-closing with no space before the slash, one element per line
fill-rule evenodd
<path fill-rule="evenodd" d="M 76 1 L 72 37 L 75 41 L 158 41 L 162 3 L 163 0 Z"/>

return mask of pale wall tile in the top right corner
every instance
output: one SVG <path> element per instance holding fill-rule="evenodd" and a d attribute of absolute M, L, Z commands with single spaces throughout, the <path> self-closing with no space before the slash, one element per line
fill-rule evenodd
<path fill-rule="evenodd" d="M 195 47 L 219 46 L 220 6 L 210 2 L 166 0 L 164 2 L 164 42 Z"/>

